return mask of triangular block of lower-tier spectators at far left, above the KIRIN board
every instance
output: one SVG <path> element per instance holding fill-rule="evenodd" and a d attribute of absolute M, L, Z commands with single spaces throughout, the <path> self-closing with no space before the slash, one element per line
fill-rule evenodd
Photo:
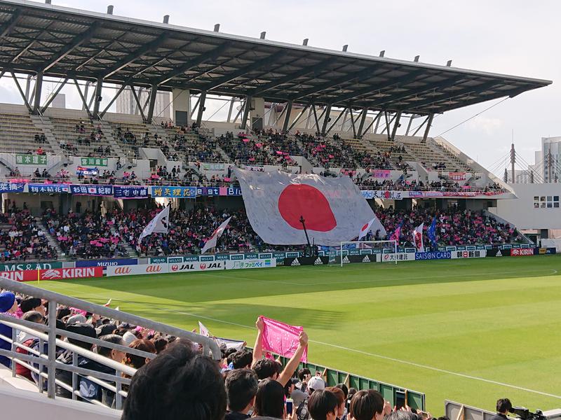
<path fill-rule="evenodd" d="M 0 214 L 0 261 L 54 260 L 56 250 L 49 246 L 43 229 L 29 213 L 27 204 L 18 209 L 13 204 L 6 214 Z M 9 226 L 9 227 L 8 227 Z"/>

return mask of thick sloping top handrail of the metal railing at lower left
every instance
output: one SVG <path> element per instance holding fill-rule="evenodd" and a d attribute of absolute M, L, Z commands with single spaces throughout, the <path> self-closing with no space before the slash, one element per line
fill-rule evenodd
<path fill-rule="evenodd" d="M 0 288 L 16 291 L 18 293 L 23 293 L 24 295 L 40 297 L 41 299 L 48 300 L 49 303 L 56 302 L 58 304 L 64 304 L 69 307 L 76 307 L 91 312 L 93 314 L 105 316 L 107 318 L 119 319 L 119 321 L 126 322 L 131 325 L 142 325 L 142 327 L 144 328 L 149 328 L 151 330 L 163 332 L 168 335 L 175 335 L 175 337 L 189 339 L 192 342 L 201 344 L 203 346 L 203 353 L 206 354 L 210 351 L 212 353 L 212 358 L 214 360 L 221 360 L 222 358 L 222 354 L 220 352 L 218 344 L 212 338 L 204 337 L 203 335 L 198 335 L 194 332 L 182 330 L 181 328 L 173 327 L 171 325 L 166 325 L 164 323 L 160 323 L 157 321 L 152 321 L 150 319 L 142 318 L 137 315 L 128 314 L 127 312 L 117 311 L 116 309 L 111 309 L 108 307 L 102 307 L 98 304 L 86 302 L 85 300 L 76 299 L 75 297 L 61 295 L 60 293 L 51 292 L 49 290 L 44 290 L 35 286 L 30 286 L 29 284 L 18 283 L 8 279 L 0 278 Z M 56 307 L 53 307 L 53 311 L 54 311 L 53 313 L 54 316 L 56 313 Z M 49 307 L 49 315 L 51 315 L 50 307 Z M 55 318 L 53 318 L 52 322 L 53 323 L 50 323 L 50 316 L 49 316 L 50 325 L 55 324 Z M 55 332 L 54 329 L 53 332 Z"/>

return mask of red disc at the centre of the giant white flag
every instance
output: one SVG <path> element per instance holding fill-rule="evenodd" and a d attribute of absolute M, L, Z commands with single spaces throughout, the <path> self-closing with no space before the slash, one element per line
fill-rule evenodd
<path fill-rule="evenodd" d="M 300 216 L 306 221 L 306 229 L 329 232 L 337 221 L 329 201 L 318 188 L 305 184 L 292 184 L 278 197 L 278 211 L 292 228 L 304 230 Z"/>

